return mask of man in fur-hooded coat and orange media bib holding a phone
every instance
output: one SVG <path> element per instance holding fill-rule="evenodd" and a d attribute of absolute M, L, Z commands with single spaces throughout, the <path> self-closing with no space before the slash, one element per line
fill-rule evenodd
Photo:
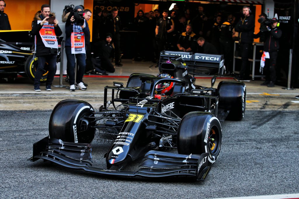
<path fill-rule="evenodd" d="M 56 36 L 60 36 L 62 31 L 58 26 L 57 19 L 53 23 L 48 22 L 50 15 L 50 5 L 44 4 L 41 8 L 42 14 L 36 15 L 32 21 L 32 34 L 35 35 L 36 56 L 38 66 L 34 76 L 34 90 L 41 91 L 39 88 L 40 78 L 44 70 L 45 63 L 48 63 L 48 76 L 46 90 L 51 91 L 51 84 L 56 73 L 56 58 L 58 42 Z M 51 13 L 54 16 L 53 13 Z"/>

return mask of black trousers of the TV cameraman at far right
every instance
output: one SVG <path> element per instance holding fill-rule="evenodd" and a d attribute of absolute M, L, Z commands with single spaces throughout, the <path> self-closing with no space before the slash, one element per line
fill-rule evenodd
<path fill-rule="evenodd" d="M 270 58 L 265 60 L 264 73 L 266 75 L 266 81 L 276 81 L 276 59 L 277 51 L 269 52 Z"/>

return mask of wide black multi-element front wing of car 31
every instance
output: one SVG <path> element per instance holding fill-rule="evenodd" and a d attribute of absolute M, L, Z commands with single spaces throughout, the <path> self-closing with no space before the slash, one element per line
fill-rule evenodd
<path fill-rule="evenodd" d="M 28 160 L 48 160 L 71 169 L 82 169 L 102 175 L 161 178 L 170 176 L 193 177 L 204 180 L 210 166 L 208 153 L 201 155 L 181 155 L 175 153 L 149 151 L 136 172 L 102 169 L 92 166 L 91 145 L 68 143 L 48 137 L 33 144 L 33 157 Z"/>

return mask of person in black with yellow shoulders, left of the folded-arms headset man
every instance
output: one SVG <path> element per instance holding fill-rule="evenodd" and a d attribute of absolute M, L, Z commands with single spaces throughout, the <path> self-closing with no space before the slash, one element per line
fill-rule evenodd
<path fill-rule="evenodd" d="M 234 41 L 232 24 L 236 17 L 229 15 L 220 28 L 220 53 L 224 56 L 224 65 L 227 74 L 233 73 Z"/>

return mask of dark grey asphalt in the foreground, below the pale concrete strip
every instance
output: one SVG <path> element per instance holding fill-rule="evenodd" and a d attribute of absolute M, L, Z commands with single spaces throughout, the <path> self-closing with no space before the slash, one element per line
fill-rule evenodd
<path fill-rule="evenodd" d="M 204 182 L 107 178 L 27 161 L 48 135 L 51 111 L 0 111 L 0 198 L 225 198 L 299 193 L 299 114 L 250 110 L 222 122 L 222 149 Z M 95 166 L 109 144 L 93 143 Z M 129 167 L 134 167 L 131 165 Z"/>

